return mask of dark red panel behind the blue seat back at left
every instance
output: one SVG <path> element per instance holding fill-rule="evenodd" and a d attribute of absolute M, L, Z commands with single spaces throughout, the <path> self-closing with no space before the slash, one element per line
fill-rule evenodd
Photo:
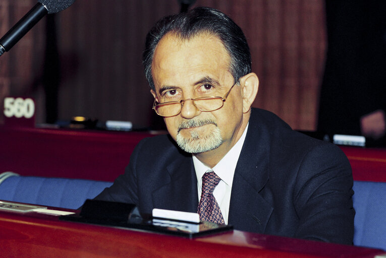
<path fill-rule="evenodd" d="M 0 129 L 0 172 L 113 181 L 149 133 Z"/>

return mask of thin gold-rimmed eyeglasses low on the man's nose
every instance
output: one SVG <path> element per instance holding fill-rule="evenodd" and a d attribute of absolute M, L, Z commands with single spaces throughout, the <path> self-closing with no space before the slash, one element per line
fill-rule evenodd
<path fill-rule="evenodd" d="M 229 93 L 231 92 L 233 86 L 235 86 L 237 82 L 232 85 L 232 87 L 229 89 L 228 93 L 225 95 L 225 97 L 200 97 L 195 99 L 182 99 L 180 101 L 168 101 L 163 103 L 158 103 L 154 99 L 153 103 L 153 109 L 157 115 L 163 116 L 163 117 L 170 117 L 178 115 L 181 112 L 182 109 L 182 102 L 192 100 L 193 105 L 200 111 L 203 112 L 210 112 L 217 109 L 220 109 L 224 106 L 224 102 L 226 101 Z"/>

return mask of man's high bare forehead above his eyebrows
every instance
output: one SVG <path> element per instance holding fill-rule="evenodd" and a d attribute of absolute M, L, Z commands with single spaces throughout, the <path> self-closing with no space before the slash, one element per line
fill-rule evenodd
<path fill-rule="evenodd" d="M 221 82 L 232 77 L 229 67 L 230 55 L 217 36 L 200 33 L 185 40 L 168 33 L 155 48 L 152 76 L 156 88 L 186 85 L 203 77 Z"/>

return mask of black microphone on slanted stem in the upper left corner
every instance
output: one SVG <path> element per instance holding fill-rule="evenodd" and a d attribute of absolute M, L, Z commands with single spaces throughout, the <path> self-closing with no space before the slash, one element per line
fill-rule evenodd
<path fill-rule="evenodd" d="M 0 55 L 9 51 L 46 14 L 58 13 L 75 0 L 38 0 L 38 3 L 0 39 Z"/>

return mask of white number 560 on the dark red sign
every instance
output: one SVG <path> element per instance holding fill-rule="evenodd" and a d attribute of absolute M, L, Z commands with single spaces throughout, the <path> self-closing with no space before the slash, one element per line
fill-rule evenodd
<path fill-rule="evenodd" d="M 4 115 L 7 117 L 31 118 L 35 112 L 35 103 L 32 99 L 12 98 L 4 99 Z"/>

